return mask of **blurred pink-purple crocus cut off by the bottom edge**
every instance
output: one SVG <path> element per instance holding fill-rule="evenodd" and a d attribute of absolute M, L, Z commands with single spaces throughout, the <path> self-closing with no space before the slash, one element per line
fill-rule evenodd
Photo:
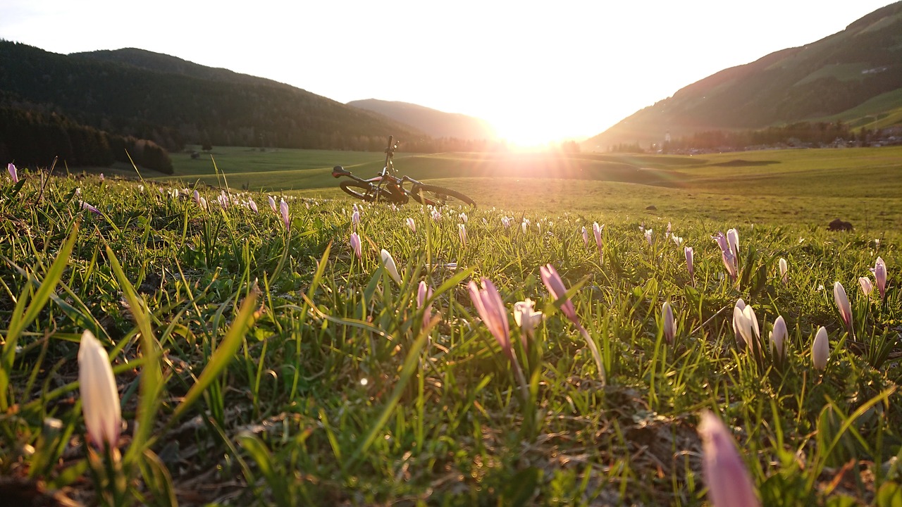
<path fill-rule="evenodd" d="M 730 430 L 712 412 L 702 412 L 698 425 L 702 438 L 704 482 L 713 507 L 759 507 L 755 487 Z"/>

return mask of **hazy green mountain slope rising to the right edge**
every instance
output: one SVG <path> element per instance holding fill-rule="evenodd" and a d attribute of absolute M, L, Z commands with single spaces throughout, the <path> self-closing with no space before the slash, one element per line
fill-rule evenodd
<path fill-rule="evenodd" d="M 704 58 L 704 57 L 700 57 Z M 710 130 L 802 121 L 869 128 L 902 122 L 902 2 L 802 47 L 724 69 L 678 90 L 583 143 L 660 143 Z"/>

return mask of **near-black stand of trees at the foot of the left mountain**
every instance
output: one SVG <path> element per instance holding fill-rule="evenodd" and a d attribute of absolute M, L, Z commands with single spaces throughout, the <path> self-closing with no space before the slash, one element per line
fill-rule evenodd
<path fill-rule="evenodd" d="M 108 134 L 57 114 L 0 107 L 0 162 L 48 167 L 55 159 L 69 167 L 108 167 L 114 161 L 172 174 L 169 153 L 159 144 Z"/>

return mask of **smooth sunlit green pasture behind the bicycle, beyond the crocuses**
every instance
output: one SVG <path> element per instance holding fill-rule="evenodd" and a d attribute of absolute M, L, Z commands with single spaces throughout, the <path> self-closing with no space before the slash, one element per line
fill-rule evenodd
<path fill-rule="evenodd" d="M 369 178 L 383 161 L 373 152 L 249 148 L 217 148 L 212 160 L 173 155 L 184 183 L 329 198 L 344 195 L 331 176 L 333 166 Z M 841 218 L 864 232 L 902 223 L 902 147 L 695 156 L 402 153 L 395 167 L 399 174 L 464 191 L 481 207 L 809 226 Z"/>

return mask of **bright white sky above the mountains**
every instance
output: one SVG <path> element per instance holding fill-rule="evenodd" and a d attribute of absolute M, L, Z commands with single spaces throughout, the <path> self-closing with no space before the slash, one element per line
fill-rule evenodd
<path fill-rule="evenodd" d="M 488 120 L 513 143 L 599 134 L 698 79 L 842 31 L 890 0 L 3 0 L 0 38 L 156 51 L 339 102 Z"/>

